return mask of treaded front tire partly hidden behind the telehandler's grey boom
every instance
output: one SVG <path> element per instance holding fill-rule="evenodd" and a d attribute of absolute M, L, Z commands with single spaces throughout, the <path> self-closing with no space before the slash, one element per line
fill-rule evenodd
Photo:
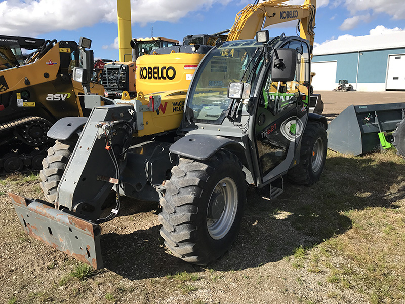
<path fill-rule="evenodd" d="M 75 145 L 74 140 L 57 140 L 55 145 L 48 149 L 48 155 L 42 161 L 43 169 L 39 172 L 41 188 L 50 203 L 55 203 L 58 185 Z"/>

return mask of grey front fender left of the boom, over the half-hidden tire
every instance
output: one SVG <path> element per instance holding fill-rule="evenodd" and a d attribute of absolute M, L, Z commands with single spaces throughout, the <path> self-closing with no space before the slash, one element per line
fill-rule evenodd
<path fill-rule="evenodd" d="M 87 120 L 87 117 L 61 118 L 48 130 L 47 136 L 56 140 L 67 140 L 73 134 L 82 131 Z"/>

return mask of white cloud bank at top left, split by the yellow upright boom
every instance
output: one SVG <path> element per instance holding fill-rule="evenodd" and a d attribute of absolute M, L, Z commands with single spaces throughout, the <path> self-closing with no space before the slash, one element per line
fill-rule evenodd
<path fill-rule="evenodd" d="M 176 22 L 188 13 L 208 10 L 231 0 L 131 0 L 132 23 Z M 0 32 L 37 36 L 54 30 L 75 30 L 100 21 L 117 22 L 116 0 L 4 0 L 0 2 Z"/>

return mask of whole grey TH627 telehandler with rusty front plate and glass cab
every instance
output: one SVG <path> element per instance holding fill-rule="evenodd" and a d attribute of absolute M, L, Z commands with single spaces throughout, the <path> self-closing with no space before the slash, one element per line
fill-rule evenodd
<path fill-rule="evenodd" d="M 101 226 L 125 195 L 160 202 L 160 234 L 174 255 L 215 261 L 236 238 L 248 184 L 269 186 L 275 198 L 284 177 L 302 185 L 320 178 L 327 121 L 308 111 L 310 58 L 307 40 L 259 31 L 256 40 L 212 48 L 185 104 L 170 93 L 85 96 L 115 105 L 49 130 L 57 141 L 41 175 L 50 202 L 10 194 L 24 230 L 102 268 Z M 116 205 L 106 209 L 111 189 Z"/>

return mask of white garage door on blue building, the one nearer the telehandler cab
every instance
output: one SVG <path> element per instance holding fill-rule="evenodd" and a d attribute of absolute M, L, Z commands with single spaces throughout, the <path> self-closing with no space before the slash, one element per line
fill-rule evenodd
<path fill-rule="evenodd" d="M 315 91 L 332 91 L 336 88 L 337 61 L 312 62 L 311 72 L 316 73 L 312 79 Z"/>

